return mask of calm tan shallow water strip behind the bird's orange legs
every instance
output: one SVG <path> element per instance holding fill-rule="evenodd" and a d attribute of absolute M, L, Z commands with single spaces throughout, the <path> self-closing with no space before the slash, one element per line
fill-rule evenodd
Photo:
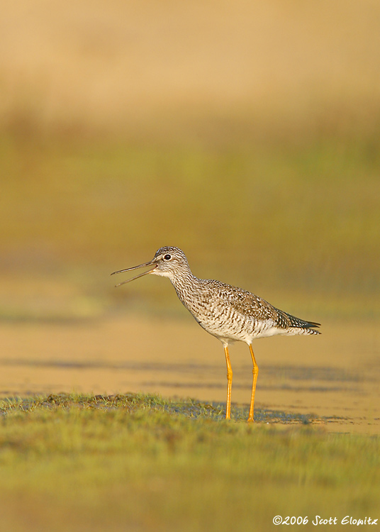
<path fill-rule="evenodd" d="M 222 345 L 189 319 L 117 316 L 76 323 L 2 323 L 0 396 L 157 392 L 223 403 Z M 380 333 L 326 323 L 318 337 L 257 340 L 256 408 L 310 415 L 330 431 L 380 433 Z M 246 345 L 230 347 L 233 406 L 252 385 Z M 259 415 L 257 416 L 260 417 Z M 281 415 L 274 422 L 281 423 Z"/>

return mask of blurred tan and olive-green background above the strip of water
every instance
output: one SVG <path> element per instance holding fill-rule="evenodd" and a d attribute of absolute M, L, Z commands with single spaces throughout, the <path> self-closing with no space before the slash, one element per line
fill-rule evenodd
<path fill-rule="evenodd" d="M 13 1 L 0 21 L 0 315 L 179 309 L 114 270 L 324 319 L 380 311 L 380 4 Z M 123 280 L 123 279 L 120 279 Z"/>

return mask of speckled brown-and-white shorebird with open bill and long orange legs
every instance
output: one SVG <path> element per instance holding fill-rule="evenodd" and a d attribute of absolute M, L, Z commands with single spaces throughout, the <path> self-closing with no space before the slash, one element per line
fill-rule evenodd
<path fill-rule="evenodd" d="M 320 323 L 291 316 L 287 312 L 276 309 L 261 297 L 241 288 L 212 279 L 199 279 L 191 272 L 184 252 L 174 246 L 160 248 L 149 262 L 113 272 L 111 275 L 130 272 L 130 270 L 138 270 L 143 267 L 149 267 L 149 269 L 132 277 L 132 279 L 116 284 L 116 287 L 147 274 L 169 277 L 180 301 L 199 325 L 223 343 L 227 364 L 225 419 L 231 417 L 233 370 L 228 353 L 228 344 L 231 341 L 240 340 L 247 343 L 250 348 L 253 382 L 250 413 L 247 421 L 253 421 L 259 367 L 252 350 L 252 340 L 277 334 L 320 334 L 319 331 L 315 331 L 315 327 L 320 326 Z"/>

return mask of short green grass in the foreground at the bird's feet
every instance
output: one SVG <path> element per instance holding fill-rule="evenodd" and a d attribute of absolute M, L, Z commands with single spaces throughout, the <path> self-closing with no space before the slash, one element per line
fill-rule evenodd
<path fill-rule="evenodd" d="M 0 412 L 4 530 L 265 531 L 278 514 L 379 509 L 379 438 L 132 394 L 3 400 Z"/>

